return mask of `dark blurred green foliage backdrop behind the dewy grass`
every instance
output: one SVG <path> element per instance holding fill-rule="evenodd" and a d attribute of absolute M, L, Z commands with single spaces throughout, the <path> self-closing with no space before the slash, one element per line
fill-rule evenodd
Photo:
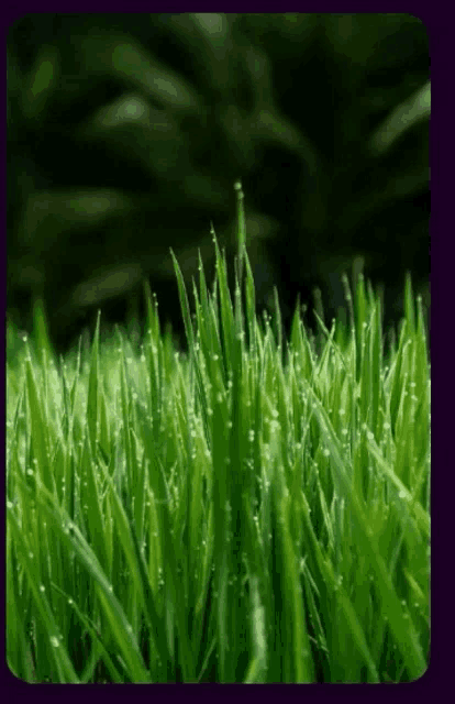
<path fill-rule="evenodd" d="M 44 300 L 58 351 L 91 326 L 138 334 L 142 282 L 185 346 L 187 285 L 210 220 L 235 253 L 245 193 L 258 312 L 284 322 L 343 271 L 402 312 L 430 305 L 429 37 L 409 14 L 29 14 L 8 36 L 8 316 Z M 230 258 L 228 260 L 230 262 Z M 232 263 L 232 260 L 231 260 Z M 231 266 L 233 270 L 233 266 Z M 313 316 L 307 314 L 312 324 Z"/>

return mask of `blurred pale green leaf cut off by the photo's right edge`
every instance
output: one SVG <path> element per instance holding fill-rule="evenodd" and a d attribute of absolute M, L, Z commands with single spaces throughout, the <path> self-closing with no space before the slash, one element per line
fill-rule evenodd
<path fill-rule="evenodd" d="M 397 106 L 370 140 L 370 150 L 382 154 L 410 128 L 430 118 L 431 84 L 428 81 L 408 100 Z"/>

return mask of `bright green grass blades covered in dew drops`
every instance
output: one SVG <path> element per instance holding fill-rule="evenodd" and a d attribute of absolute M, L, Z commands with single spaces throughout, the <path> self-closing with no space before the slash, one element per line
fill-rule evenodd
<path fill-rule="evenodd" d="M 259 323 L 237 189 L 234 302 L 217 240 L 188 354 L 121 329 L 56 360 L 7 331 L 7 657 L 27 682 L 409 682 L 430 644 L 430 366 L 406 283 L 385 350 Z M 214 233 L 213 233 L 214 235 Z M 174 256 L 174 254 L 173 254 Z M 246 320 L 246 323 L 245 323 Z"/>

